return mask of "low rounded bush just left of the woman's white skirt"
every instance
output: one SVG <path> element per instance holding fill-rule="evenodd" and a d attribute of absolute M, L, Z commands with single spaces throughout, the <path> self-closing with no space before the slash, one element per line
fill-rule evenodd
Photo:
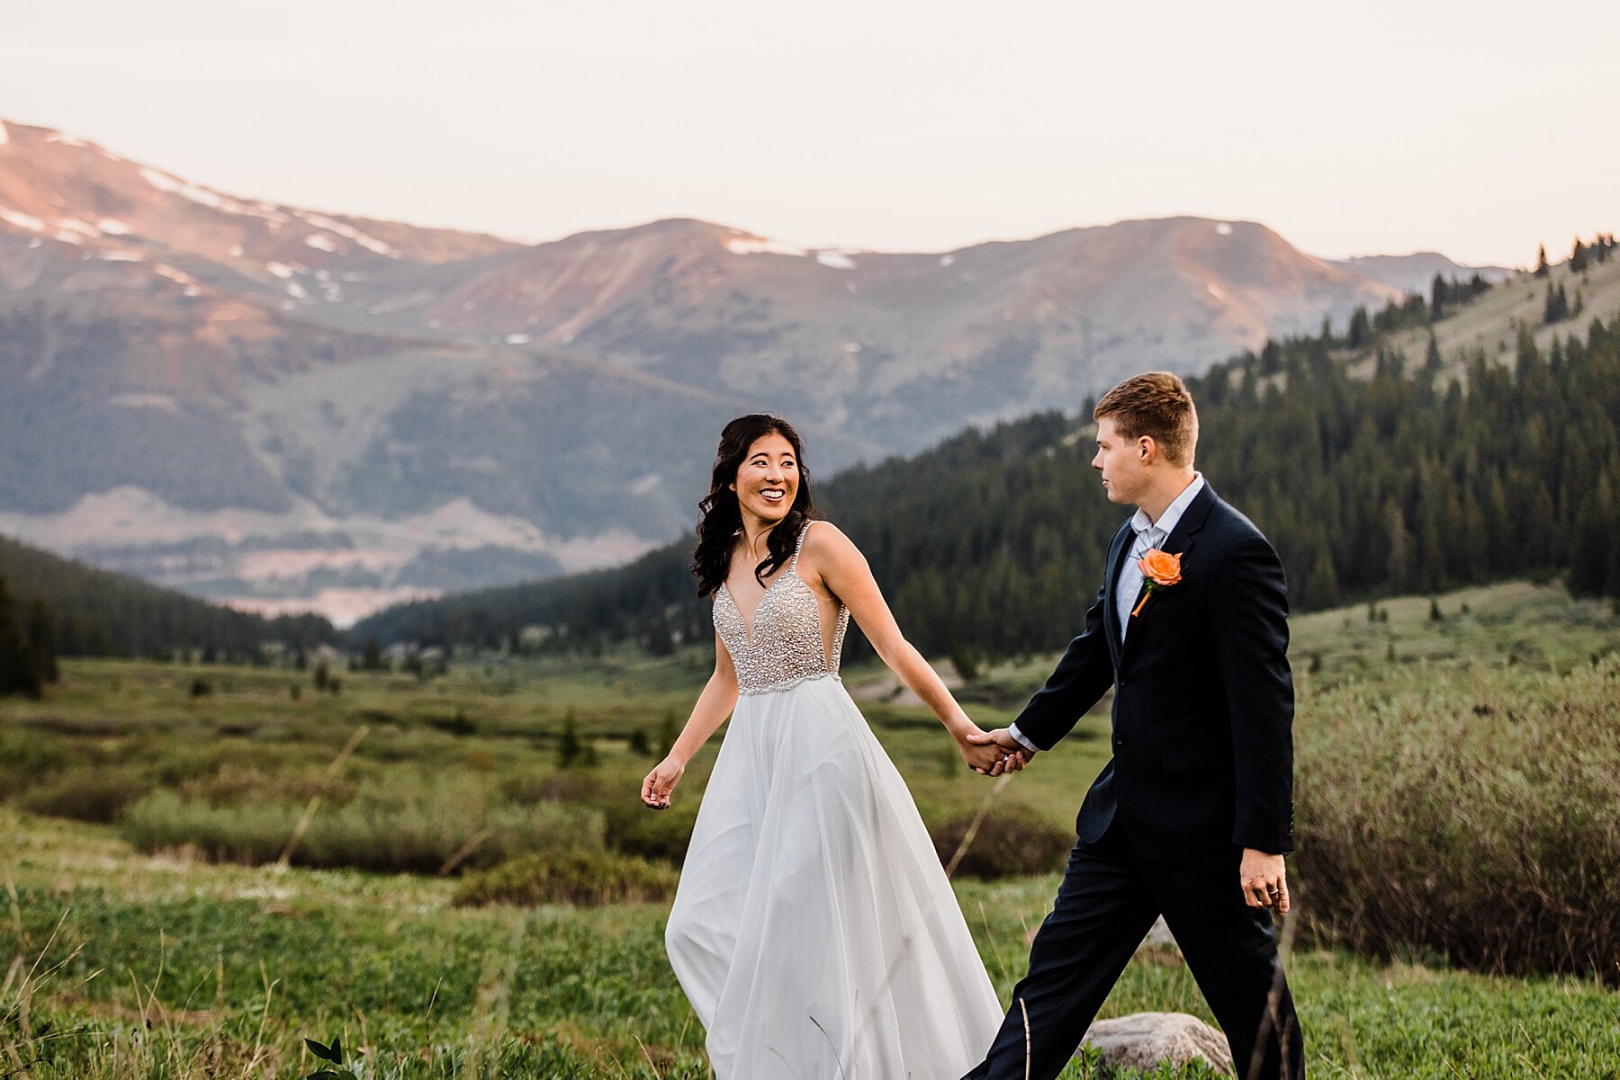
<path fill-rule="evenodd" d="M 455 904 L 661 904 L 674 895 L 676 879 L 667 866 L 573 848 L 525 855 L 470 874 L 457 889 Z"/>

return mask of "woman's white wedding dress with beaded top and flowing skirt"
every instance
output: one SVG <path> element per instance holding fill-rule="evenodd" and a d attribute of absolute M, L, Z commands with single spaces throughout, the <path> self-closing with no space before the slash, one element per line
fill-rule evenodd
<path fill-rule="evenodd" d="M 1001 1007 L 910 792 L 838 678 L 849 610 L 828 653 L 797 563 L 795 549 L 752 628 L 726 586 L 714 596 L 739 699 L 669 962 L 718 1080 L 954 1080 Z"/>

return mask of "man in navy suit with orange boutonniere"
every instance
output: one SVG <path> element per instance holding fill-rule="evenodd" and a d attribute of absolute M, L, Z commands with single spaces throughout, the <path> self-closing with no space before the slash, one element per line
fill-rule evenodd
<path fill-rule="evenodd" d="M 1092 466 L 1110 502 L 1136 515 L 1115 534 L 1097 604 L 1047 685 L 1011 727 L 978 742 L 1022 767 L 1113 687 L 1113 761 L 1081 806 L 1029 975 L 967 1075 L 1056 1077 L 1162 913 L 1238 1077 L 1304 1077 L 1272 929 L 1272 912 L 1290 905 L 1283 855 L 1294 845 L 1283 567 L 1194 471 L 1199 419 L 1181 379 L 1126 379 L 1094 416 Z"/>

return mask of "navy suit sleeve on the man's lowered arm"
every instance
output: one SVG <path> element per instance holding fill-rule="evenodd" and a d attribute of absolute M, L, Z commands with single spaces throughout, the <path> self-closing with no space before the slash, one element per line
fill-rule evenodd
<path fill-rule="evenodd" d="M 1294 850 L 1294 677 L 1288 667 L 1288 581 L 1264 536 L 1233 542 L 1210 580 L 1215 654 L 1238 774 L 1233 844 Z"/>

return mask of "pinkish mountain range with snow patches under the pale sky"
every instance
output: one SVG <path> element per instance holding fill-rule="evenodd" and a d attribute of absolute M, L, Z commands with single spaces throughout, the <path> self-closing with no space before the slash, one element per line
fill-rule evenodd
<path fill-rule="evenodd" d="M 740 411 L 826 474 L 1473 272 L 1196 217 L 928 254 L 698 220 L 522 244 L 0 121 L 0 533 L 347 622 L 667 541 Z"/>

